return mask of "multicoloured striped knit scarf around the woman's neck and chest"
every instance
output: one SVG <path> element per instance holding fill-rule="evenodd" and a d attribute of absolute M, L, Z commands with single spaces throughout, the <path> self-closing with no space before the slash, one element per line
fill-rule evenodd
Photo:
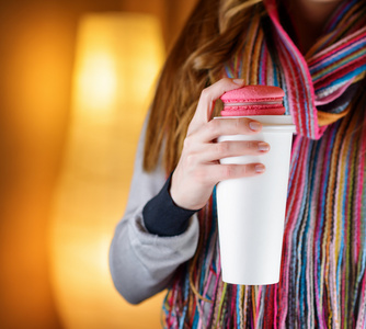
<path fill-rule="evenodd" d="M 281 282 L 221 281 L 214 191 L 197 252 L 164 300 L 165 328 L 366 328 L 365 4 L 344 1 L 304 57 L 274 2 L 226 75 L 282 87 L 297 126 Z"/>

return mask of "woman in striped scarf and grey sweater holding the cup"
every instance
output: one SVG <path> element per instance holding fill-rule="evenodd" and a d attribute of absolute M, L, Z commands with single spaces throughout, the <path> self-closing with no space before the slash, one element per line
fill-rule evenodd
<path fill-rule="evenodd" d="M 130 303 L 168 288 L 167 328 L 365 328 L 366 3 L 362 0 L 201 0 L 172 49 L 138 146 L 110 263 Z M 220 277 L 213 190 L 261 174 L 245 118 L 211 121 L 243 84 L 284 89 L 294 138 L 278 284 Z M 172 173 L 172 174 L 171 174 Z"/>

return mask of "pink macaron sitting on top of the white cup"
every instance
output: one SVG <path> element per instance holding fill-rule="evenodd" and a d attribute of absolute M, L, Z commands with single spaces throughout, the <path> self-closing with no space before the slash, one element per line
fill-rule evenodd
<path fill-rule="evenodd" d="M 285 92 L 274 86 L 244 86 L 221 95 L 222 116 L 283 115 Z"/>

